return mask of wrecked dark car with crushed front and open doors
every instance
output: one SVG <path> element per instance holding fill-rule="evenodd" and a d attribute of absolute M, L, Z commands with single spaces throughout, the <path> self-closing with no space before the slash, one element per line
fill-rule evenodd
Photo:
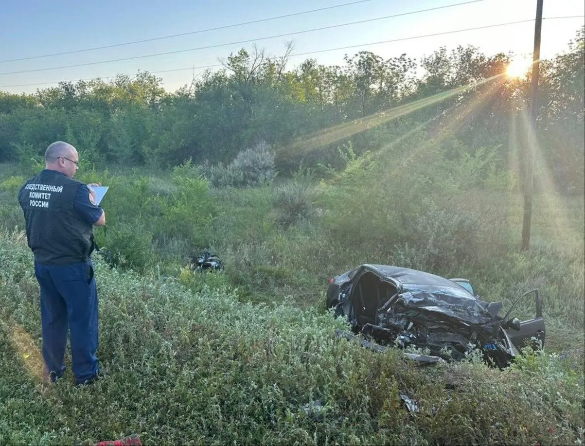
<path fill-rule="evenodd" d="M 519 301 L 534 296 L 535 317 L 510 318 Z M 346 317 L 352 331 L 377 345 L 428 349 L 460 361 L 479 349 L 486 362 L 507 366 L 526 343 L 544 345 L 538 290 L 522 294 L 501 317 L 501 302 L 479 299 L 466 279 L 388 265 L 361 265 L 329 280 L 327 308 Z"/>

